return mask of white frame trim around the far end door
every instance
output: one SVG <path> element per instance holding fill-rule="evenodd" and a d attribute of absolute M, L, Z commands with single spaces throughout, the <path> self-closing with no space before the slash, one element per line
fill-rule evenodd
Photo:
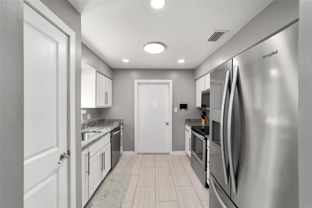
<path fill-rule="evenodd" d="M 135 80 L 135 154 L 137 154 L 137 86 L 140 83 L 168 83 L 169 84 L 169 154 L 172 154 L 172 107 L 173 107 L 173 81 L 172 80 Z"/>

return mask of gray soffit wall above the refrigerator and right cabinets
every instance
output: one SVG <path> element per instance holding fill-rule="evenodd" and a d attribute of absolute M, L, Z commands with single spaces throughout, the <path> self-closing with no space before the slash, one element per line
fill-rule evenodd
<path fill-rule="evenodd" d="M 299 17 L 299 0 L 273 0 L 228 42 L 195 69 L 195 79 L 261 41 Z"/>

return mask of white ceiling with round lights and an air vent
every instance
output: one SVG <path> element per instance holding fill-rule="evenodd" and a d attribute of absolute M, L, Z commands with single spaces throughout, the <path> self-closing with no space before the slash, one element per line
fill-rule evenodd
<path fill-rule="evenodd" d="M 81 14 L 82 42 L 112 68 L 168 69 L 194 69 L 271 1 L 167 0 L 157 10 L 149 0 L 70 0 Z M 214 30 L 229 32 L 207 42 Z M 147 42 L 166 50 L 148 54 Z"/>

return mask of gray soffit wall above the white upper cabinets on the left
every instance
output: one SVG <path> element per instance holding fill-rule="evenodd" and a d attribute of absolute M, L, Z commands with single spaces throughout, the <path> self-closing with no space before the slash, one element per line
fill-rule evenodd
<path fill-rule="evenodd" d="M 105 76 L 113 79 L 112 67 L 110 67 L 106 62 L 101 60 L 98 55 L 96 55 L 83 43 L 81 43 L 81 61 L 89 64 Z"/>

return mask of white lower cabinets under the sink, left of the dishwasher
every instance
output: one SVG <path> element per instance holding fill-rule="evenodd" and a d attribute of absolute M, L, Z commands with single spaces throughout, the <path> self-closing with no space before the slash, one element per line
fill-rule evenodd
<path fill-rule="evenodd" d="M 100 146 L 102 147 L 99 150 Z M 94 149 L 98 151 L 95 152 Z M 92 197 L 110 169 L 111 143 L 108 134 L 81 152 L 82 207 Z"/>

